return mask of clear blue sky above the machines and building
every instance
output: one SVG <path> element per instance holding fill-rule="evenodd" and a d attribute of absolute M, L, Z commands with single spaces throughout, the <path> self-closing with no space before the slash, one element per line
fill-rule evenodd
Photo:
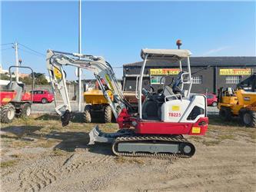
<path fill-rule="evenodd" d="M 256 14 L 253 2 L 82 2 L 81 49 L 101 55 L 115 68 L 141 61 L 141 48 L 189 49 L 193 56 L 255 56 Z M 1 2 L 1 64 L 18 58 L 48 74 L 47 49 L 78 52 L 78 2 Z M 32 48 L 41 54 L 28 50 Z M 75 68 L 66 68 L 76 79 Z M 84 71 L 83 78 L 93 78 Z"/>

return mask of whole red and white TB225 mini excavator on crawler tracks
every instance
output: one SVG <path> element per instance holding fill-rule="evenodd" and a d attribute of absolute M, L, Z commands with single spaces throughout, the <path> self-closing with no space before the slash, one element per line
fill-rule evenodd
<path fill-rule="evenodd" d="M 48 50 L 46 65 L 52 89 L 55 94 L 59 91 L 63 99 L 63 104 L 55 106 L 55 111 L 61 115 L 62 126 L 68 125 L 72 116 L 63 66 L 85 68 L 94 73 L 120 128 L 115 133 L 104 133 L 96 126 L 89 133 L 88 144 L 110 143 L 113 153 L 120 156 L 192 157 L 194 144 L 183 135 L 204 135 L 208 128 L 208 117 L 206 97 L 191 93 L 190 55 L 190 51 L 181 49 L 142 49 L 141 58 L 144 61 L 136 89 L 138 111 L 133 111 L 111 65 L 104 58 Z M 180 73 L 174 84 L 171 87 L 166 85 L 161 92 L 142 88 L 145 65 L 147 61 L 155 59 L 180 63 Z M 183 60 L 187 61 L 187 71 L 182 69 Z M 113 100 L 108 91 L 111 91 Z M 143 102 L 142 95 L 145 96 Z"/>

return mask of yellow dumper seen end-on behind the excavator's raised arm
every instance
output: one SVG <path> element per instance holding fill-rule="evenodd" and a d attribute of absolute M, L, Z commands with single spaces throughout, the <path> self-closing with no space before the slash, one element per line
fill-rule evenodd
<path fill-rule="evenodd" d="M 113 94 L 111 94 L 111 91 L 108 90 L 107 92 L 108 92 L 109 98 L 111 98 L 111 101 L 114 101 L 114 97 L 113 97 Z M 97 88 L 93 88 L 89 91 L 85 91 L 84 101 L 86 103 L 85 111 L 84 111 L 85 123 L 91 122 L 91 117 L 93 116 L 92 114 L 96 114 L 96 113 L 102 114 L 102 112 L 104 113 L 105 123 L 111 122 L 113 118 L 111 107 L 108 104 L 108 101 L 101 90 Z"/>

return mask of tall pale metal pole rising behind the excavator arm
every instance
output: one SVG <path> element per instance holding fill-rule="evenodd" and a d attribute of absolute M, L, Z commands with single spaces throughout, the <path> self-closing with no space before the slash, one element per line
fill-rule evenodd
<path fill-rule="evenodd" d="M 81 54 L 81 0 L 79 0 L 78 53 Z M 81 111 L 81 68 L 78 68 L 78 111 Z"/>

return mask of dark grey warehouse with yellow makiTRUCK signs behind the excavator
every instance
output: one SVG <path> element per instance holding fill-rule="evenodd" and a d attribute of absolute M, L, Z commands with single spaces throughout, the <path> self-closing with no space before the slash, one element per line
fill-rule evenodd
<path fill-rule="evenodd" d="M 235 88 L 236 84 L 256 73 L 256 57 L 191 57 L 192 92 L 217 93 L 218 88 Z M 186 61 L 182 61 L 186 66 Z M 142 61 L 123 65 L 123 90 L 135 91 Z M 184 68 L 186 71 L 186 68 Z M 143 86 L 157 91 L 171 84 L 179 73 L 179 64 L 168 61 L 148 61 Z"/>

